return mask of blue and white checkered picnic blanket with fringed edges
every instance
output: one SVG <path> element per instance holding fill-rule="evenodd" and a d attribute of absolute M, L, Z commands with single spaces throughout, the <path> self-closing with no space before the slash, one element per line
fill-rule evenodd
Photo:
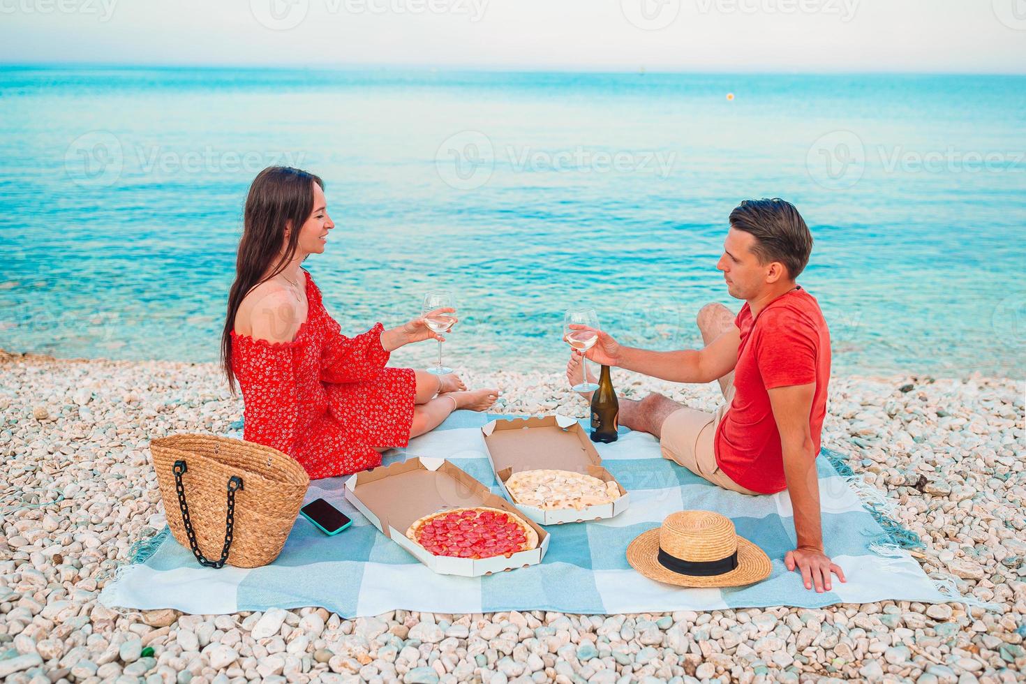
<path fill-rule="evenodd" d="M 411 440 L 406 449 L 387 453 L 385 465 L 413 455 L 444 457 L 502 495 L 480 433 L 494 417 L 511 416 L 458 411 L 439 429 Z M 883 555 L 870 549 L 893 536 L 863 506 L 850 479 L 823 454 L 817 461 L 825 550 L 844 570 L 847 582 L 835 577 L 832 590 L 820 594 L 806 590 L 801 576 L 784 565 L 784 555 L 795 547 L 786 491 L 750 496 L 720 489 L 663 458 L 659 442 L 643 433 L 624 430 L 617 442 L 596 446 L 603 465 L 630 491 L 630 508 L 607 520 L 547 527 L 552 538 L 539 565 L 483 577 L 436 574 L 345 499 L 345 478 L 331 478 L 312 482 L 307 500 L 323 497 L 345 512 L 353 519 L 346 531 L 326 536 L 301 517 L 271 565 L 213 570 L 199 567 L 165 529 L 159 544 L 150 545 L 156 550 L 137 559 L 142 562 L 123 567 L 101 601 L 108 606 L 169 607 L 205 614 L 323 606 L 353 617 L 398 608 L 443 613 L 511 609 L 624 613 L 957 600 L 940 591 L 907 552 L 894 545 Z M 627 563 L 628 544 L 684 509 L 728 516 L 738 534 L 770 556 L 770 577 L 748 587 L 682 589 L 635 572 Z"/>

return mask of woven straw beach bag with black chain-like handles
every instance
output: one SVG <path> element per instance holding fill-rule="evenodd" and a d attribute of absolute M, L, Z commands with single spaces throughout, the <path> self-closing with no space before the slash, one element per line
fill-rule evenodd
<path fill-rule="evenodd" d="M 269 446 L 212 435 L 150 442 L 167 526 L 200 565 L 267 565 L 281 553 L 310 478 Z M 209 560 L 216 559 L 216 560 Z"/>

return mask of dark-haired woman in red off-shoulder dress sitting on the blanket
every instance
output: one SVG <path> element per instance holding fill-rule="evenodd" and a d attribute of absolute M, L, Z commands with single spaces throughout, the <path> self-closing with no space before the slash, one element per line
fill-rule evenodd
<path fill-rule="evenodd" d="M 381 451 L 441 425 L 456 409 L 486 410 L 499 391 L 467 391 L 455 374 L 387 368 L 391 352 L 444 338 L 423 318 L 346 337 L 300 265 L 324 251 L 334 224 L 316 175 L 275 166 L 246 198 L 222 361 L 245 405 L 243 438 L 295 458 L 313 479 L 381 464 Z M 455 313 L 452 309 L 439 310 Z M 435 313 L 435 312 L 433 312 Z"/>

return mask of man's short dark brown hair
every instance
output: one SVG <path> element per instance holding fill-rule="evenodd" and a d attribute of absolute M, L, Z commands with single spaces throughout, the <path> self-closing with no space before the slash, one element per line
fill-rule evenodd
<path fill-rule="evenodd" d="M 759 263 L 780 261 L 792 279 L 808 264 L 813 234 L 790 202 L 779 197 L 745 200 L 731 212 L 731 228 L 751 233 Z"/>

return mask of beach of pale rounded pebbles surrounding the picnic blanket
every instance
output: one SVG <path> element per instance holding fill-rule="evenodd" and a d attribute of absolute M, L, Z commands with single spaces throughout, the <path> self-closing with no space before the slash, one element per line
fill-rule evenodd
<path fill-rule="evenodd" d="M 462 372 L 502 413 L 585 415 L 561 369 Z M 708 410 L 715 385 L 626 372 Z M 165 516 L 149 441 L 226 434 L 242 415 L 213 364 L 54 359 L 0 351 L 0 681 L 834 682 L 1023 681 L 1026 435 L 1022 380 L 831 380 L 823 444 L 849 456 L 919 535 L 923 570 L 962 603 L 576 615 L 111 610 L 100 591 Z"/>

